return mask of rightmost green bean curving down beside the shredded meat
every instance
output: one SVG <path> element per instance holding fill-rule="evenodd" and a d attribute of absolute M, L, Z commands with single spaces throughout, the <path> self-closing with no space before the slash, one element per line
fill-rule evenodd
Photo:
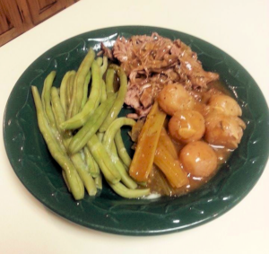
<path fill-rule="evenodd" d="M 108 117 L 101 125 L 100 132 L 105 132 L 108 129 L 108 126 L 113 122 L 114 119 L 117 118 L 117 115 L 122 109 L 122 106 L 124 104 L 127 92 L 127 76 L 122 68 L 120 68 L 119 71 L 119 80 L 120 80 L 120 87 L 117 94 L 117 100 L 115 101 L 112 109 L 109 110 Z"/>

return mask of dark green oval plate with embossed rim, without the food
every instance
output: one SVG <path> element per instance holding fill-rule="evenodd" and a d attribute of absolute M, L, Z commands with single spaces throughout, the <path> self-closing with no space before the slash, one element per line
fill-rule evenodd
<path fill-rule="evenodd" d="M 197 52 L 204 69 L 217 72 L 234 93 L 247 123 L 239 149 L 232 153 L 213 180 L 184 197 L 128 200 L 118 197 L 104 183 L 98 197 L 85 195 L 74 201 L 67 191 L 61 170 L 48 153 L 39 132 L 30 85 L 41 92 L 43 81 L 56 70 L 59 86 L 66 71 L 77 69 L 87 48 L 112 46 L 117 36 L 158 32 L 181 39 Z M 127 109 L 121 114 L 125 115 Z M 178 232 L 213 220 L 239 203 L 254 187 L 265 168 L 269 145 L 269 115 L 265 98 L 256 82 L 221 49 L 186 33 L 156 27 L 125 26 L 90 31 L 49 49 L 22 74 L 7 102 L 4 116 L 4 145 L 13 170 L 30 193 L 58 215 L 83 226 L 128 235 Z M 124 140 L 131 142 L 124 131 Z M 129 150 L 130 151 L 130 150 Z"/>

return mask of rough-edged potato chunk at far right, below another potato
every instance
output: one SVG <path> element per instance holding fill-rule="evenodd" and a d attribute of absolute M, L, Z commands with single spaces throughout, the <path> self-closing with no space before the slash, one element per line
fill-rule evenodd
<path fill-rule="evenodd" d="M 204 140 L 212 145 L 236 149 L 245 128 L 245 123 L 238 117 L 211 113 L 205 118 Z"/>

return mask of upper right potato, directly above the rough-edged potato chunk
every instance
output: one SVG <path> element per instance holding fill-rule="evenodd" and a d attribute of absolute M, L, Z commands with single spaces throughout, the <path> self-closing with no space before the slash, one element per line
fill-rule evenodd
<path fill-rule="evenodd" d="M 208 105 L 211 108 L 220 111 L 224 115 L 232 117 L 242 116 L 242 109 L 240 108 L 238 102 L 228 95 L 224 94 L 213 95 L 210 98 Z"/>

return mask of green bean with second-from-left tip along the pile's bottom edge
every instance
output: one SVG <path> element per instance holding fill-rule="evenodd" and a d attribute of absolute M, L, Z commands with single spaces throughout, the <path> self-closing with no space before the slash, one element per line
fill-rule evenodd
<path fill-rule="evenodd" d="M 83 162 L 82 160 L 82 155 L 80 153 L 75 153 L 74 155 L 71 156 L 71 160 L 74 163 L 74 166 L 76 170 L 78 171 L 82 182 L 87 189 L 88 193 L 90 196 L 95 196 L 97 189 L 95 185 L 95 181 L 91 177 L 91 173 L 89 171 L 89 168 Z"/>

